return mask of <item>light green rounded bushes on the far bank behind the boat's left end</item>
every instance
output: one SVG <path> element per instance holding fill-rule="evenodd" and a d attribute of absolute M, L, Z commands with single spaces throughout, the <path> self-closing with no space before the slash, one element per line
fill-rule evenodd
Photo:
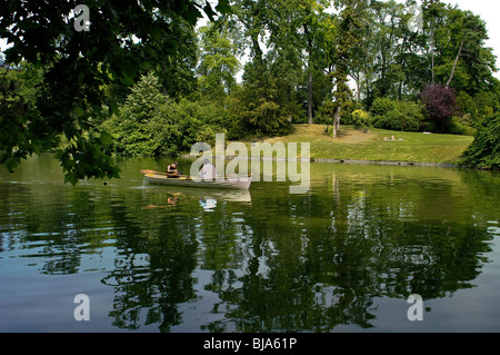
<path fill-rule="evenodd" d="M 101 125 L 113 140 L 107 151 L 123 156 L 161 156 L 189 151 L 197 141 L 214 142 L 229 126 L 219 105 L 167 98 L 153 73 L 133 86 L 119 115 Z"/>

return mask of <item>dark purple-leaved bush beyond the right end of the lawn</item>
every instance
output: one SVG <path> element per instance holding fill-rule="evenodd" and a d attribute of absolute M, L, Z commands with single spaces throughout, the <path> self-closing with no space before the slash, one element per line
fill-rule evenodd
<path fill-rule="evenodd" d="M 458 111 L 454 90 L 440 83 L 431 83 L 423 88 L 421 100 L 436 130 L 446 132 L 451 117 Z"/>

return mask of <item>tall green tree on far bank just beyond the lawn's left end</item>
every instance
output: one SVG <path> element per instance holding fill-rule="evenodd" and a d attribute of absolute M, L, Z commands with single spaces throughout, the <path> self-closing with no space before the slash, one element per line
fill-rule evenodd
<path fill-rule="evenodd" d="M 297 90 L 303 73 L 303 47 L 297 33 L 302 19 L 294 4 L 283 0 L 233 2 L 233 17 L 247 40 L 250 60 L 232 108 L 250 134 L 274 135 L 299 116 Z"/>

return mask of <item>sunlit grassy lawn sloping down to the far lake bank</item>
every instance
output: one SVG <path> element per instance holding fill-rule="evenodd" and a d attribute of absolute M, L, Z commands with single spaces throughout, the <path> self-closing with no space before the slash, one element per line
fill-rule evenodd
<path fill-rule="evenodd" d="M 326 129 L 326 125 L 294 125 L 294 132 L 266 141 L 310 142 L 311 159 L 456 164 L 473 140 L 470 136 L 377 128 L 362 132 L 352 126 L 341 126 L 338 138 L 332 140 Z M 396 140 L 391 140 L 392 136 Z"/>

